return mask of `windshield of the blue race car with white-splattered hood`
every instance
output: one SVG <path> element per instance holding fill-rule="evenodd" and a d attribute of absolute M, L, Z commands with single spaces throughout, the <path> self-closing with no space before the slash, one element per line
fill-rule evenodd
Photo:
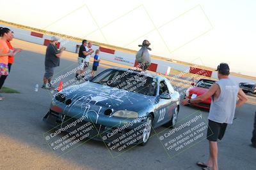
<path fill-rule="evenodd" d="M 93 78 L 93 83 L 128 90 L 147 96 L 156 95 L 156 78 L 149 77 L 147 73 L 133 71 L 106 70 Z"/>

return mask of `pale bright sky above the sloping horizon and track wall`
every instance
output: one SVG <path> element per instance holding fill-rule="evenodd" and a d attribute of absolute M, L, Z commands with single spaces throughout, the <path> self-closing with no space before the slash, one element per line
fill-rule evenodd
<path fill-rule="evenodd" d="M 256 76 L 255 0 L 9 0 L 0 19 Z"/>

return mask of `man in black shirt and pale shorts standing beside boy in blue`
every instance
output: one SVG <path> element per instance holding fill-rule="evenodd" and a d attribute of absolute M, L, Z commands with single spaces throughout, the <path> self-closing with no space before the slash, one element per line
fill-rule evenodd
<path fill-rule="evenodd" d="M 88 49 L 88 42 L 84 39 L 82 45 L 79 48 L 77 62 L 79 64 L 79 70 L 77 70 L 76 78 L 79 80 L 81 77 L 84 77 L 83 73 L 87 67 L 86 57 L 90 56 L 93 53 L 93 50 Z"/>

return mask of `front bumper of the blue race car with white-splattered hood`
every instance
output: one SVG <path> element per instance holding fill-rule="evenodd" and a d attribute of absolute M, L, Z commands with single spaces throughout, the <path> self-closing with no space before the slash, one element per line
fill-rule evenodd
<path fill-rule="evenodd" d="M 76 129 L 83 127 L 84 124 L 90 123 L 93 125 L 93 128 L 90 130 L 90 136 L 88 136 L 88 138 L 104 141 L 106 143 L 111 143 L 116 138 L 120 138 L 120 136 L 124 136 L 124 134 L 133 131 L 133 129 L 138 130 L 138 127 L 143 129 L 143 125 L 145 124 L 144 119 L 134 121 L 129 118 L 110 118 L 112 120 L 111 122 L 106 120 L 106 118 L 99 116 L 97 124 L 95 124 L 95 121 L 92 119 L 84 117 L 81 122 L 72 126 L 72 124 L 77 121 L 77 117 L 68 117 L 67 115 L 49 110 L 43 118 L 43 121 L 55 130 L 68 127 L 68 129 L 63 128 L 65 129 L 65 132 L 74 132 Z"/>

